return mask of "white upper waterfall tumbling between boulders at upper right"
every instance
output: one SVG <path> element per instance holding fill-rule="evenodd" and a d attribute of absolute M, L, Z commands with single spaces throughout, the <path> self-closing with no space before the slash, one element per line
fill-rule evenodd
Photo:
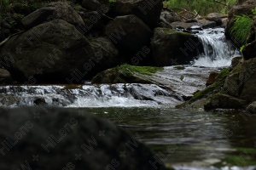
<path fill-rule="evenodd" d="M 194 65 L 206 67 L 230 66 L 231 59 L 239 55 L 235 45 L 227 41 L 224 28 L 210 28 L 196 34 L 202 42 L 204 54 L 194 60 Z"/>

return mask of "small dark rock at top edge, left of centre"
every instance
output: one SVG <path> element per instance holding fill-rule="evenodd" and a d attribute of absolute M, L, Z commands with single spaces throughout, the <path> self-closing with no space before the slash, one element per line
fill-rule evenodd
<path fill-rule="evenodd" d="M 82 7 L 92 11 L 96 11 L 100 10 L 103 6 L 103 8 L 107 8 L 108 3 L 108 0 L 83 0 Z M 104 13 L 107 12 L 108 10 L 104 11 Z"/>

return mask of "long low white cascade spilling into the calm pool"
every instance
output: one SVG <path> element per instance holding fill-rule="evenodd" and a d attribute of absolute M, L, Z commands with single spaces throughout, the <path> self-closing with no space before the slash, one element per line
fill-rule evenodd
<path fill-rule="evenodd" d="M 154 84 L 2 86 L 0 106 L 152 107 L 181 103 L 176 94 Z"/>

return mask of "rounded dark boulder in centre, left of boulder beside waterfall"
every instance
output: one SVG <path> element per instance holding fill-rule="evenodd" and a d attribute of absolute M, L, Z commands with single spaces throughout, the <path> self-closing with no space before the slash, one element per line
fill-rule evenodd
<path fill-rule="evenodd" d="M 148 45 L 152 31 L 142 20 L 131 14 L 116 17 L 106 27 L 105 34 L 120 52 L 131 54 Z"/>

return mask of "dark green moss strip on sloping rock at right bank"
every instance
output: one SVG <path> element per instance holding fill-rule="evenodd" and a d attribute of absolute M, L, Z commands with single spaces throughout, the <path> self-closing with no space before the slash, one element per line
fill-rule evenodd
<path fill-rule="evenodd" d="M 189 99 L 189 103 L 192 103 L 198 99 L 207 98 L 210 94 L 218 93 L 223 87 L 224 81 L 226 77 L 229 76 L 230 71 L 230 68 L 225 68 L 222 71 L 220 71 L 218 77 L 216 77 L 216 81 L 207 88 L 197 92 L 191 99 Z"/>

